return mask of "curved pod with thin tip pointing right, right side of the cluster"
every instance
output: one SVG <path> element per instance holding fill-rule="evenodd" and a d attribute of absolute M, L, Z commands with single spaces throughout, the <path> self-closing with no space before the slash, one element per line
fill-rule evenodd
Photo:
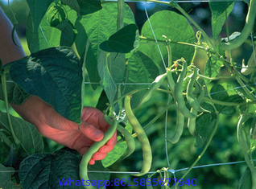
<path fill-rule="evenodd" d="M 188 82 L 188 88 L 187 88 L 187 94 L 186 94 L 188 103 L 192 107 L 192 109 L 195 109 L 195 111 L 197 111 L 197 112 L 209 112 L 208 110 L 203 109 L 200 106 L 199 102 L 196 101 L 196 98 L 193 96 L 193 85 L 196 81 L 196 77 L 197 77 L 197 68 L 194 68 L 193 75 L 192 75 L 191 79 Z"/>

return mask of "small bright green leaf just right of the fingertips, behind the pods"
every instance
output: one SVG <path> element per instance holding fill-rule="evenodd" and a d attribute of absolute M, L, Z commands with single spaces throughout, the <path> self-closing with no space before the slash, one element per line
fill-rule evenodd
<path fill-rule="evenodd" d="M 105 167 L 111 166 L 114 162 L 118 161 L 118 159 L 125 153 L 127 149 L 126 142 L 120 142 L 114 149 L 110 151 L 107 156 L 101 160 L 102 165 Z"/>

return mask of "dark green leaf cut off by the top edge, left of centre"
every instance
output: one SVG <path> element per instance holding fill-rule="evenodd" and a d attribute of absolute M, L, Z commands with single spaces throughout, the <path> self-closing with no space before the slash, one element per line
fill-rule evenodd
<path fill-rule="evenodd" d="M 78 14 L 85 15 L 101 10 L 101 1 L 92 0 L 61 0 L 64 5 L 70 6 Z"/>

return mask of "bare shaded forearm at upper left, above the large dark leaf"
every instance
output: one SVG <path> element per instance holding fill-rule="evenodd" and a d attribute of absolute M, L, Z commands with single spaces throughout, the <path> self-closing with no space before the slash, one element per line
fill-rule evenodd
<path fill-rule="evenodd" d="M 17 47 L 11 39 L 12 28 L 13 25 L 0 7 L 0 59 L 3 65 L 14 60 L 22 59 L 25 56 L 23 49 L 20 48 L 21 44 L 16 33 L 14 33 L 14 40 L 19 47 Z"/>

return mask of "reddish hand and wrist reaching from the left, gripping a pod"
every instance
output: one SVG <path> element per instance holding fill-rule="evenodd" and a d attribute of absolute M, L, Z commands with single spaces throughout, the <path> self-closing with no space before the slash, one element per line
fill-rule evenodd
<path fill-rule="evenodd" d="M 89 150 L 93 142 L 101 141 L 110 127 L 103 113 L 93 107 L 84 107 L 81 115 L 82 123 L 78 125 L 61 117 L 51 105 L 47 105 L 39 97 L 32 96 L 23 105 L 12 106 L 25 120 L 35 125 L 40 134 L 77 150 L 81 155 Z M 96 160 L 105 158 L 106 154 L 113 150 L 116 142 L 117 132 L 97 153 L 93 154 L 89 164 L 93 165 Z"/>

